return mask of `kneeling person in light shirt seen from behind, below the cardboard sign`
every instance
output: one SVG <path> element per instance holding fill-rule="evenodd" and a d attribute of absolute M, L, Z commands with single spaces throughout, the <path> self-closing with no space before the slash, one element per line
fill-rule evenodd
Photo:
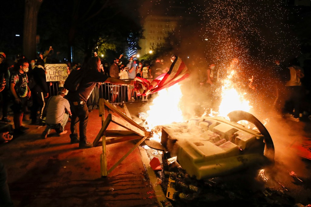
<path fill-rule="evenodd" d="M 46 128 L 41 135 L 43 139 L 47 137 L 51 129 L 55 129 L 59 135 L 67 133 L 67 130 L 64 129 L 71 112 L 68 100 L 64 99 L 65 93 L 66 89 L 59 87 L 58 94 L 48 100 L 45 118 Z"/>

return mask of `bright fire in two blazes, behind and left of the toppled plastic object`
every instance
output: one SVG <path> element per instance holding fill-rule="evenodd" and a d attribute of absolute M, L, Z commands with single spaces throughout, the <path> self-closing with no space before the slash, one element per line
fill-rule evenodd
<path fill-rule="evenodd" d="M 229 67 L 230 68 L 230 67 Z M 244 98 L 245 93 L 239 92 L 234 86 L 232 78 L 235 75 L 235 70 L 230 68 L 228 75 L 221 81 L 221 102 L 218 111 L 213 111 L 209 116 L 221 116 L 227 118 L 227 114 L 235 111 L 242 110 L 249 112 L 252 106 L 249 101 Z M 146 126 L 153 129 L 153 139 L 160 140 L 161 132 L 156 131 L 154 127 L 172 122 L 183 122 L 186 120 L 183 117 L 182 110 L 180 109 L 180 100 L 182 92 L 179 84 L 175 84 L 165 90 L 160 90 L 158 96 L 153 100 L 150 110 L 147 111 Z M 206 116 L 205 112 L 202 114 Z"/>

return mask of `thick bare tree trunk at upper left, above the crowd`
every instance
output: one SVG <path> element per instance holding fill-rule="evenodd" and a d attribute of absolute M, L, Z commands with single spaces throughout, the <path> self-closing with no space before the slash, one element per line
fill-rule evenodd
<path fill-rule="evenodd" d="M 28 59 L 36 58 L 36 35 L 38 12 L 43 0 L 25 0 L 23 54 Z"/>

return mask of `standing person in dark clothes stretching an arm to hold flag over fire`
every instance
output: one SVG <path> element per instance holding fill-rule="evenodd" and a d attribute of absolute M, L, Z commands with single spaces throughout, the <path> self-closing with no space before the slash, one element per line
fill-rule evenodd
<path fill-rule="evenodd" d="M 101 61 L 100 58 L 92 57 L 87 62 L 86 66 L 81 68 L 84 75 L 80 82 L 80 86 L 77 91 L 70 91 L 67 94 L 69 99 L 70 108 L 72 111 L 72 119 L 70 122 L 70 139 L 71 144 L 79 143 L 79 148 L 93 147 L 93 143 L 87 142 L 86 139 L 86 126 L 89 119 L 89 111 L 86 106 L 86 101 L 90 97 L 96 83 L 112 83 L 112 84 L 126 84 L 134 85 L 134 81 L 123 81 L 118 78 L 108 77 L 101 73 Z M 79 123 L 78 137 L 77 125 Z"/>

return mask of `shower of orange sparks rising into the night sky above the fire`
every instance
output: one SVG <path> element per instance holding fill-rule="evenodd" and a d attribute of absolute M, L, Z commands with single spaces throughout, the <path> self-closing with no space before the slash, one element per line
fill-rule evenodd
<path fill-rule="evenodd" d="M 286 24 L 287 11 L 279 0 L 208 0 L 193 9 L 200 13 L 206 57 L 218 66 L 219 79 L 227 76 L 230 62 L 237 59 L 234 69 L 242 78 L 235 81 L 263 78 L 262 87 L 273 90 L 268 89 L 271 79 L 264 71 L 276 58 L 283 62 L 298 54 L 297 40 Z"/>

